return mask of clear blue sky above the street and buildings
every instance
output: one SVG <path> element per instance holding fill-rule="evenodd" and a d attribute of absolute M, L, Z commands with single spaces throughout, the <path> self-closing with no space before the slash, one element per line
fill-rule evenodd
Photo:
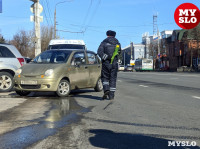
<path fill-rule="evenodd" d="M 56 8 L 57 34 L 61 39 L 82 39 L 88 50 L 96 52 L 106 31 L 114 30 L 124 48 L 130 42 L 141 43 L 145 32 L 153 34 L 155 14 L 160 32 L 180 29 L 174 21 L 174 11 L 188 2 L 200 8 L 199 0 L 40 0 L 44 17 L 41 26 L 54 26 Z M 20 30 L 34 29 L 30 22 L 32 4 L 30 0 L 2 0 L 0 34 L 5 39 L 11 40 Z"/>

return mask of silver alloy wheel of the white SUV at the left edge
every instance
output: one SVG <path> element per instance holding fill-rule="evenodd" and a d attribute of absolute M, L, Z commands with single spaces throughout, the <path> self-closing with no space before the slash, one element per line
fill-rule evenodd
<path fill-rule="evenodd" d="M 8 72 L 0 72 L 0 91 L 9 92 L 13 88 L 13 76 Z"/>

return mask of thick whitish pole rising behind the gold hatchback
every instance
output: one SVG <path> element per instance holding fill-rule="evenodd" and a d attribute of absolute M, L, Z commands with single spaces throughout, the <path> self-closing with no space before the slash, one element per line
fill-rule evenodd
<path fill-rule="evenodd" d="M 40 37 L 40 22 L 43 21 L 43 17 L 40 16 L 42 13 L 42 5 L 39 0 L 31 0 L 34 4 L 31 6 L 31 12 L 34 16 L 31 16 L 31 21 L 34 21 L 35 26 L 35 56 L 41 53 L 41 37 Z"/>

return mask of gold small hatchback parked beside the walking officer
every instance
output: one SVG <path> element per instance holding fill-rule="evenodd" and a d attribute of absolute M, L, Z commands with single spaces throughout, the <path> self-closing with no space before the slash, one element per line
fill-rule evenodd
<path fill-rule="evenodd" d="M 52 91 L 67 96 L 73 89 L 102 91 L 101 62 L 96 53 L 85 50 L 47 50 L 18 69 L 16 93 Z"/>

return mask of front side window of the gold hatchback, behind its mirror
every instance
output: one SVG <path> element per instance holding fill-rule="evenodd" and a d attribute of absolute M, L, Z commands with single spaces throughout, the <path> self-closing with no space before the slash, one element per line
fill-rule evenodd
<path fill-rule="evenodd" d="M 71 65 L 76 65 L 77 63 L 80 65 L 84 65 L 86 63 L 84 52 L 77 52 L 72 57 Z"/>

